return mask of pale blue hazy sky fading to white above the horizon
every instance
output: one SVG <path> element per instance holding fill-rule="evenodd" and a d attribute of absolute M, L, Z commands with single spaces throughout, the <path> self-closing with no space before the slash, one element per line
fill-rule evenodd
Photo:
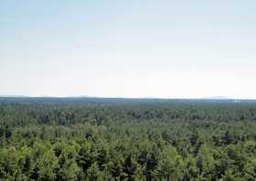
<path fill-rule="evenodd" d="M 256 99 L 255 0 L 0 0 L 0 94 Z"/>

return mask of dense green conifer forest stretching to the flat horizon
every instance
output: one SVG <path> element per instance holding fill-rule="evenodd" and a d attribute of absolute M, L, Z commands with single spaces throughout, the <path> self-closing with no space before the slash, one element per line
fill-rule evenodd
<path fill-rule="evenodd" d="M 0 99 L 2 181 L 256 180 L 256 102 Z"/>

